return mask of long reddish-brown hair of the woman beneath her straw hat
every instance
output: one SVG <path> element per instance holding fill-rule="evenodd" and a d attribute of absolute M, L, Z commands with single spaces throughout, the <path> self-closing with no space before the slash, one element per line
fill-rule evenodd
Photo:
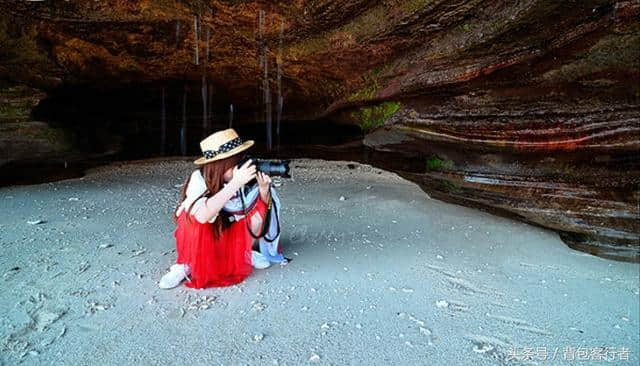
<path fill-rule="evenodd" d="M 200 173 L 202 174 L 205 184 L 207 185 L 207 190 L 203 194 L 201 194 L 200 197 L 198 197 L 195 201 L 193 201 L 193 203 L 187 208 L 186 218 L 189 223 L 191 223 L 190 212 L 191 212 L 191 208 L 193 207 L 193 204 L 196 203 L 196 201 L 201 197 L 209 198 L 214 194 L 218 193 L 218 191 L 222 189 L 225 183 L 224 172 L 238 165 L 240 160 L 244 158 L 244 155 L 245 154 L 241 152 L 241 153 L 232 155 L 228 158 L 214 160 L 210 163 L 200 166 L 199 168 Z M 178 203 L 178 207 L 176 207 L 176 209 L 173 212 L 173 221 L 176 223 L 177 223 L 176 213 L 178 212 L 180 205 L 182 205 L 182 202 L 184 202 L 185 198 L 187 198 L 187 187 L 189 186 L 190 180 L 191 180 L 191 175 L 187 177 L 186 181 L 182 185 L 182 189 L 180 190 L 180 202 Z M 220 210 L 218 217 L 216 217 L 216 219 L 213 221 L 212 223 L 213 234 L 216 239 L 220 238 L 220 234 L 222 233 L 223 226 L 225 228 L 228 226 L 228 225 L 224 225 L 225 223 L 228 223 L 228 220 L 226 220 L 227 218 L 228 218 L 228 215 L 226 215 L 223 210 Z"/>

